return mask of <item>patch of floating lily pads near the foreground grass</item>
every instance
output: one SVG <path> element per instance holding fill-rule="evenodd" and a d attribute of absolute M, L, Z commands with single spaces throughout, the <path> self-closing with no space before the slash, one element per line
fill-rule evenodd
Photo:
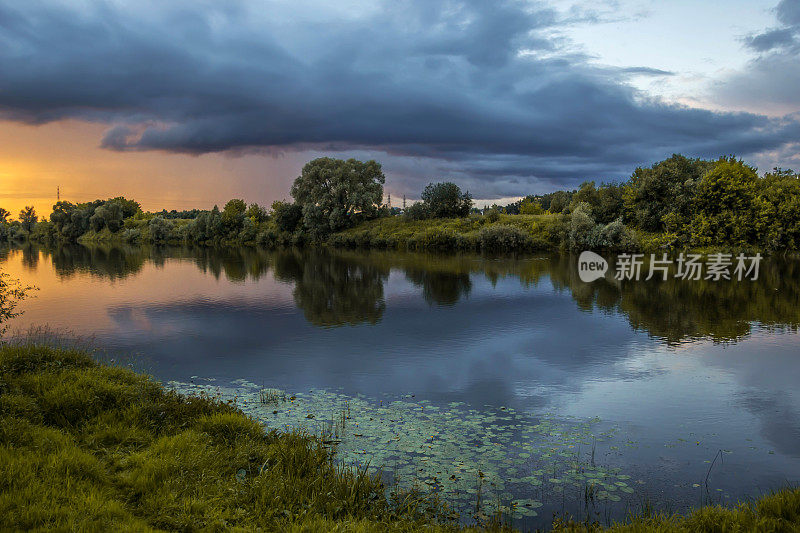
<path fill-rule="evenodd" d="M 562 502 L 565 491 L 591 490 L 593 503 L 604 504 L 634 493 L 629 475 L 591 459 L 593 446 L 615 433 L 598 419 L 324 390 L 265 407 L 259 387 L 246 380 L 227 387 L 168 385 L 182 393 L 236 398 L 239 408 L 268 428 L 320 435 L 341 464 L 381 471 L 390 487 L 435 495 L 462 516 L 535 517 L 548 503 Z"/>

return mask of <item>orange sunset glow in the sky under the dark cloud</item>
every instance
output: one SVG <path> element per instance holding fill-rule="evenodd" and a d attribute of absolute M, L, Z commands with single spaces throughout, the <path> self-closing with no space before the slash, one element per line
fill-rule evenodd
<path fill-rule="evenodd" d="M 0 122 L 0 207 L 33 205 L 46 217 L 61 199 L 134 198 L 145 210 L 207 209 L 233 197 L 269 204 L 288 196 L 302 163 L 259 154 L 117 152 L 99 146 L 107 126 L 74 120 Z"/>

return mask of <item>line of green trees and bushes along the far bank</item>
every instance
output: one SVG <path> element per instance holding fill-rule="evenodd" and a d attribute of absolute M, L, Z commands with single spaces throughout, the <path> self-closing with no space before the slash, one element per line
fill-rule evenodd
<path fill-rule="evenodd" d="M 760 176 L 733 156 L 675 154 L 635 169 L 621 183 L 586 181 L 575 190 L 483 210 L 473 206 L 469 192 L 447 181 L 429 184 L 421 201 L 408 208 L 393 209 L 383 202 L 385 180 L 376 161 L 324 157 L 303 167 L 292 201 L 269 207 L 233 199 L 222 209 L 144 212 L 136 201 L 117 197 L 60 201 L 41 220 L 33 207 L 24 208 L 18 220 L 0 208 L 0 240 L 390 248 L 417 243 L 501 251 L 800 246 L 800 176 L 780 168 Z M 376 219 L 392 223 L 367 223 Z"/>

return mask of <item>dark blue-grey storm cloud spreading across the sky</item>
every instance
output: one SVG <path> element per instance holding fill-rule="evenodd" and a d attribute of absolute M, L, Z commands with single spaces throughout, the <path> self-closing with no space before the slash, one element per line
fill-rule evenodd
<path fill-rule="evenodd" d="M 569 17 L 539 4 L 224 5 L 4 3 L 0 113 L 109 123 L 114 150 L 422 158 L 489 195 L 800 137 L 791 119 L 643 98 L 629 77 L 671 73 L 590 66 L 558 37 Z"/>

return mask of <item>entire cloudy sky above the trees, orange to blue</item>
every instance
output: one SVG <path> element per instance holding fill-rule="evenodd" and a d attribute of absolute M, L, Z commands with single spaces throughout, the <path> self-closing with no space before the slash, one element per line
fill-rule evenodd
<path fill-rule="evenodd" d="M 800 0 L 6 0 L 0 207 L 269 204 L 320 156 L 381 162 L 394 205 L 798 169 L 799 82 Z"/>

